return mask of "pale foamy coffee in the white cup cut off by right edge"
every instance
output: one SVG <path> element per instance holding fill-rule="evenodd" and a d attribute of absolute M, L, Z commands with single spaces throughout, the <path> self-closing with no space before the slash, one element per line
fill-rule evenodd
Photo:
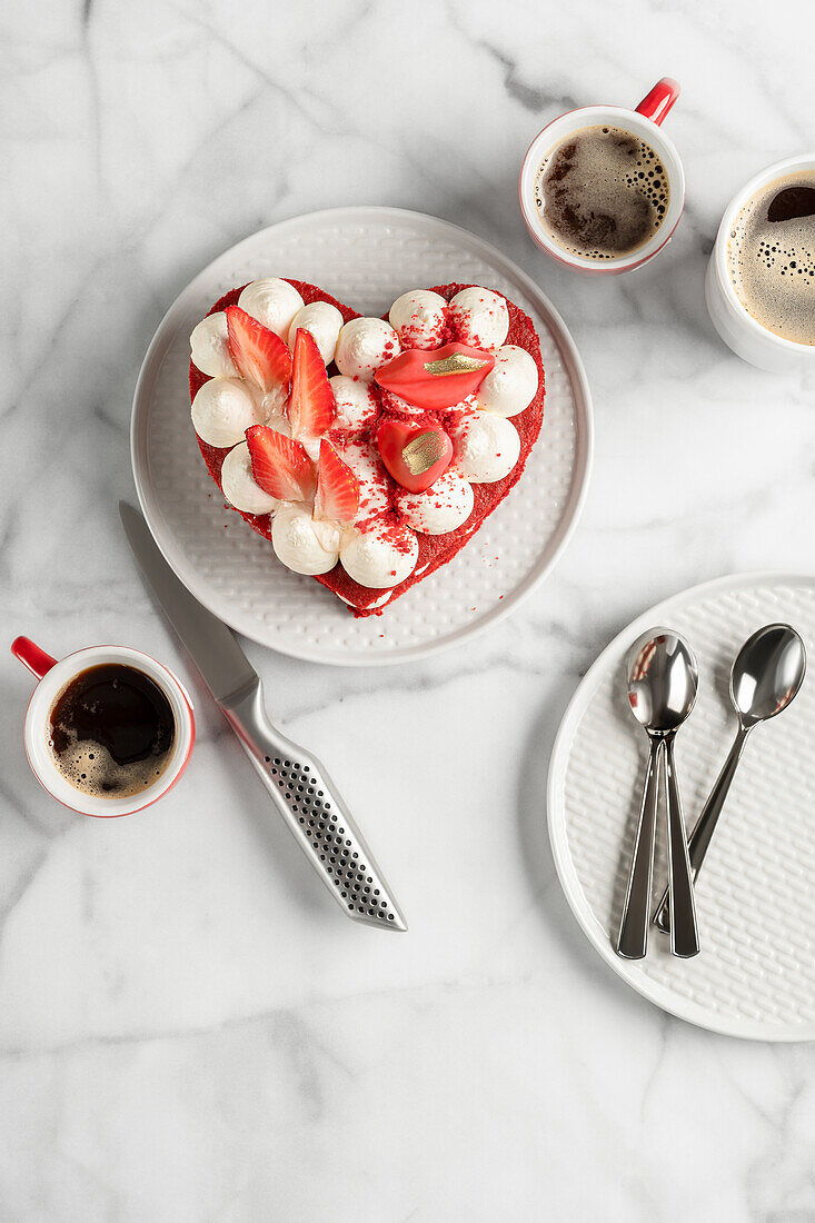
<path fill-rule="evenodd" d="M 756 323 L 815 344 L 815 170 L 761 187 L 735 219 L 727 257 L 731 284 Z"/>

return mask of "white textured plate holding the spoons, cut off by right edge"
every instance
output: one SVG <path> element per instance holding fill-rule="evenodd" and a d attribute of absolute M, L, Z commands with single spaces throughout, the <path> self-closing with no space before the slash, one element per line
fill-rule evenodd
<path fill-rule="evenodd" d="M 772 621 L 800 632 L 815 659 L 815 576 L 746 574 L 660 604 L 603 651 L 578 689 L 549 766 L 549 837 L 574 914 L 605 960 L 645 998 L 702 1027 L 766 1041 L 815 1040 L 815 675 L 756 726 L 696 887 L 701 954 L 673 959 L 653 926 L 644 960 L 616 938 L 639 815 L 647 740 L 625 700 L 624 659 L 647 629 L 684 634 L 699 658 L 696 708 L 677 736 L 685 819 L 693 827 L 735 733 L 731 665 Z M 663 815 L 655 871 L 662 895 Z"/>

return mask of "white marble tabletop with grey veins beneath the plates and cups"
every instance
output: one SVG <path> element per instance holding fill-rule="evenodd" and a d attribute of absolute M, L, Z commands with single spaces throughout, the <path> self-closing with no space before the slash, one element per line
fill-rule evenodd
<path fill-rule="evenodd" d="M 0 1217 L 773 1219 L 815 1214 L 815 1052 L 711 1036 L 630 993 L 554 878 L 543 791 L 580 674 L 649 603 L 813 567 L 815 380 L 757 373 L 702 303 L 718 216 L 815 144 L 811 5 L 244 6 L 43 0 L 2 21 L 1 608 L 54 653 L 115 640 L 190 679 L 184 784 L 121 822 L 28 772 L 6 656 Z M 743 15 L 743 16 L 739 16 Z M 515 179 L 543 121 L 662 73 L 688 207 L 608 283 L 546 262 Z M 343 921 L 143 593 L 115 514 L 168 303 L 279 218 L 459 221 L 562 309 L 596 404 L 580 530 L 476 643 L 341 671 L 250 647 L 409 916 Z"/>

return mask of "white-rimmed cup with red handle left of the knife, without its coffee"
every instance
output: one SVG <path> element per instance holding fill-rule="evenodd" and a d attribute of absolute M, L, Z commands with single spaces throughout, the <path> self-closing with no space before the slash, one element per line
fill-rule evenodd
<path fill-rule="evenodd" d="M 12 642 L 11 652 L 39 680 L 26 713 L 26 755 L 34 777 L 54 799 L 80 815 L 105 819 L 142 811 L 175 785 L 187 767 L 196 737 L 196 725 L 192 702 L 173 671 L 157 663 L 149 654 L 125 646 L 91 646 L 87 649 L 77 649 L 76 653 L 67 654 L 58 662 L 28 637 L 17 637 Z M 132 667 L 148 675 L 170 702 L 175 724 L 170 758 L 160 777 L 140 794 L 119 799 L 83 794 L 72 786 L 60 773 L 48 742 L 51 711 L 61 693 L 82 671 L 106 663 Z"/>

